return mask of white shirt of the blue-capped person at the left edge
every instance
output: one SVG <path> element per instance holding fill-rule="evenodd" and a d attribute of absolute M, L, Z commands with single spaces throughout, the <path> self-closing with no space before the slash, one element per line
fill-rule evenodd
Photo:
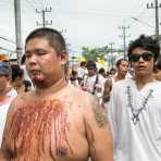
<path fill-rule="evenodd" d="M 3 131 L 4 131 L 4 125 L 5 125 L 5 119 L 7 119 L 7 113 L 10 107 L 10 103 L 14 97 L 9 97 L 7 101 L 0 102 L 0 146 L 2 143 L 2 136 L 3 136 Z"/>

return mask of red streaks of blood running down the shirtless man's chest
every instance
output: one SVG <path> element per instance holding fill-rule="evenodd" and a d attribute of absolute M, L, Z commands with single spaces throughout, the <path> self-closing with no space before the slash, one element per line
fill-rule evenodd
<path fill-rule="evenodd" d="M 17 108 L 13 113 L 10 134 L 12 134 L 15 152 L 32 149 L 34 140 L 37 148 L 35 156 L 40 157 L 49 149 L 49 154 L 55 160 L 52 152 L 53 145 L 58 157 L 64 157 L 67 152 L 73 154 L 67 139 L 69 129 L 70 123 L 64 103 L 60 100 L 44 100 L 40 103 Z M 54 136 L 53 140 L 52 136 Z M 47 138 L 49 141 L 46 141 Z"/>

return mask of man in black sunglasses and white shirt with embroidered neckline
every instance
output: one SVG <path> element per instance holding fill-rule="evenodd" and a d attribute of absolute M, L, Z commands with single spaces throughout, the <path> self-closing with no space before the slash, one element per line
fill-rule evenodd
<path fill-rule="evenodd" d="M 141 35 L 128 47 L 135 75 L 112 87 L 109 120 L 114 161 L 161 160 L 161 83 L 153 78 L 157 39 Z"/>

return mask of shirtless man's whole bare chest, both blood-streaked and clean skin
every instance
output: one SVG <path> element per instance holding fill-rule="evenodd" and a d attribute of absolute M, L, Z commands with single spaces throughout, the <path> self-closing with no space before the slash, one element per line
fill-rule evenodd
<path fill-rule="evenodd" d="M 82 116 L 67 106 L 52 100 L 18 108 L 10 129 L 14 150 L 36 151 L 36 156 L 74 154 L 74 149 L 85 144 L 84 125 Z"/>

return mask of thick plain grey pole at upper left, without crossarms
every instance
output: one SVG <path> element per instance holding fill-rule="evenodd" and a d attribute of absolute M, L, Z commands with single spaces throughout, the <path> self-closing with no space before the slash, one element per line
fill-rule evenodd
<path fill-rule="evenodd" d="M 20 58 L 22 55 L 22 29 L 21 29 L 21 2 L 14 0 L 14 16 L 15 16 L 15 37 L 16 37 L 16 54 L 17 64 L 20 64 Z"/>

